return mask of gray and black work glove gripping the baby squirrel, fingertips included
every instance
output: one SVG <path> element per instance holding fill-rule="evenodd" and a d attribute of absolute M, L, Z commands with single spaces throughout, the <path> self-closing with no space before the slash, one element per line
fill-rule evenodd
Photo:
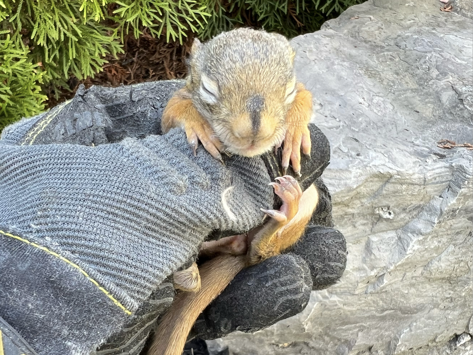
<path fill-rule="evenodd" d="M 248 231 L 261 222 L 260 207 L 278 204 L 267 185 L 280 175 L 274 155 L 227 158 L 222 166 L 202 147 L 194 157 L 183 132 L 160 135 L 162 110 L 181 86 L 81 89 L 2 133 L 0 317 L 38 354 L 97 347 L 97 354 L 138 354 L 172 302 L 172 273 L 195 259 L 204 239 Z M 344 239 L 325 228 L 331 203 L 319 178 L 328 142 L 315 127 L 312 133 L 301 185 L 319 187 L 313 225 L 288 254 L 237 275 L 202 314 L 196 334 L 264 328 L 301 311 L 312 288 L 341 276 Z M 227 202 L 236 218 L 220 203 L 228 186 L 235 186 Z M 271 280 L 270 292 L 263 290 Z"/>

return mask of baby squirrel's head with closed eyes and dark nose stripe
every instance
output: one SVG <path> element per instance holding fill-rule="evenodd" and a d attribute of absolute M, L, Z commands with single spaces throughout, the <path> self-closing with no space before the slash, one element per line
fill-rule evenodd
<path fill-rule="evenodd" d="M 282 142 L 296 96 L 294 57 L 284 36 L 250 28 L 194 40 L 187 86 L 228 153 L 252 157 Z"/>

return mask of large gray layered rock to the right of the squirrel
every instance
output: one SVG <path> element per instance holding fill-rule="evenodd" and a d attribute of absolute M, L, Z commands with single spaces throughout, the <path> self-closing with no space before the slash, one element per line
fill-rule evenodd
<path fill-rule="evenodd" d="M 347 268 L 299 315 L 211 347 L 470 354 L 472 151 L 437 142 L 472 142 L 473 24 L 462 15 L 469 9 L 440 6 L 370 0 L 293 39 L 299 80 L 314 93 L 313 122 L 332 144 L 324 181 Z"/>

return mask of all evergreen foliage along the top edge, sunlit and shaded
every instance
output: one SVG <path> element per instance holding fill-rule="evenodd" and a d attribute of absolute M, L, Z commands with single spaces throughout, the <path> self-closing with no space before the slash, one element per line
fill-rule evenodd
<path fill-rule="evenodd" d="M 166 41 L 208 39 L 236 26 L 289 37 L 317 30 L 364 0 L 0 0 L 0 120 L 44 109 L 70 77 L 94 77 L 124 37 L 143 29 Z M 1 128 L 1 124 L 0 124 Z"/>

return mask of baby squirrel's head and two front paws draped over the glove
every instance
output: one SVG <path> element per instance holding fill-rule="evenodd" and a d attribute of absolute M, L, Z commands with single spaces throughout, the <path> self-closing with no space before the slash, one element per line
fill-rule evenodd
<path fill-rule="evenodd" d="M 312 94 L 296 82 L 296 53 L 282 35 L 238 28 L 207 43 L 194 40 L 185 87 L 169 100 L 163 133 L 184 129 L 194 153 L 253 157 L 279 148 L 282 168 L 300 176 L 300 151 L 310 155 Z"/>

